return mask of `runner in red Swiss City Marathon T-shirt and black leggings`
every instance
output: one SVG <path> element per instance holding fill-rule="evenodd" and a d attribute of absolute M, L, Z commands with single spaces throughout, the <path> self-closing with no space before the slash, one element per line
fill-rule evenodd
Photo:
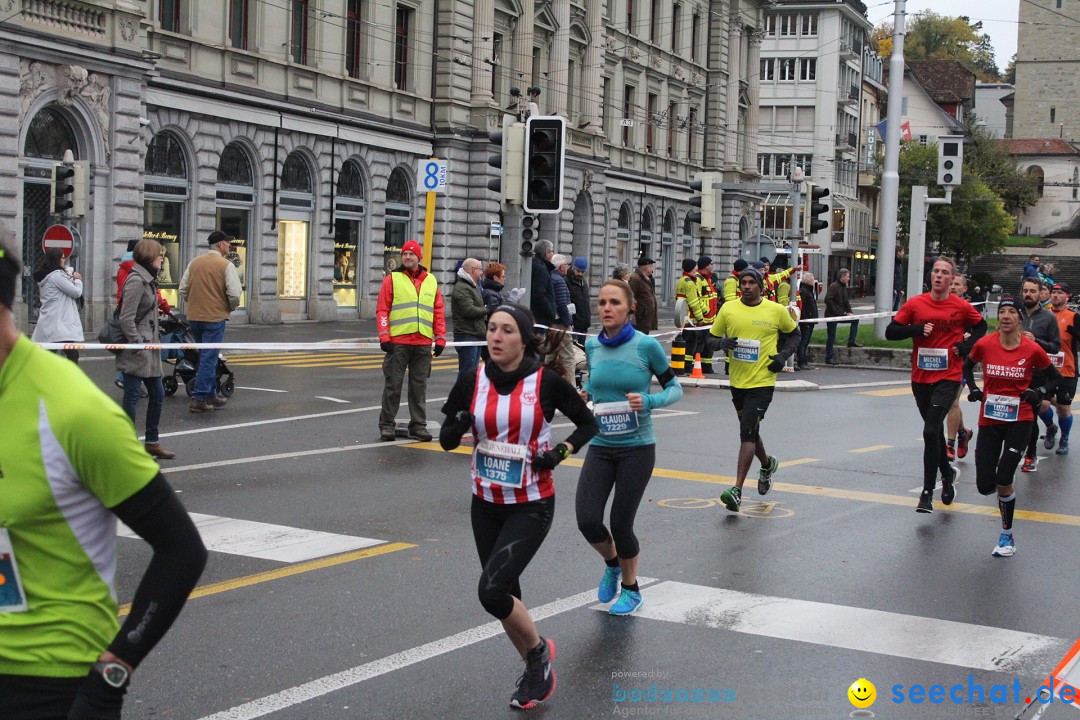
<path fill-rule="evenodd" d="M 1013 475 L 1035 422 L 1034 405 L 1054 393 L 1062 379 L 1051 365 L 1047 351 L 1021 335 L 1020 302 L 1005 296 L 998 303 L 998 331 L 984 337 L 964 361 L 971 394 L 968 399 L 982 403 L 978 413 L 978 441 L 975 445 L 975 486 L 988 495 L 997 488 L 1001 513 L 1001 535 L 994 547 L 995 557 L 1010 557 L 1016 552 L 1012 534 L 1016 493 Z M 980 390 L 971 370 L 983 364 Z M 1036 382 L 1045 379 L 1045 386 Z"/>

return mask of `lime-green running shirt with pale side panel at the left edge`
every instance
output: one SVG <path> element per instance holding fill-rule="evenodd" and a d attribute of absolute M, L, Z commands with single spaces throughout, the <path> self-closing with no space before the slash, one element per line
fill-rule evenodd
<path fill-rule="evenodd" d="M 112 642 L 120 623 L 109 508 L 158 472 L 110 397 L 77 365 L 19 336 L 0 367 L 0 535 L 10 538 L 26 610 L 0 610 L 0 674 L 80 677 Z"/>

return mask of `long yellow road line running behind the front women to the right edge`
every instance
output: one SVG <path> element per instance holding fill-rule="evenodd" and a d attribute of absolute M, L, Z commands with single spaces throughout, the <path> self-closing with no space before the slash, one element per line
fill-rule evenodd
<path fill-rule="evenodd" d="M 401 445 L 399 447 L 413 448 L 418 450 L 441 450 L 437 443 L 409 443 L 407 445 Z M 460 454 L 469 454 L 472 452 L 472 447 L 459 447 L 453 452 Z M 814 458 L 804 458 L 801 460 L 791 460 L 787 463 L 780 463 L 781 467 L 785 465 L 799 465 L 811 462 L 818 462 Z M 564 460 L 564 465 L 569 465 L 570 467 L 581 467 L 582 461 L 576 458 L 570 458 Z M 690 480 L 691 483 L 708 483 L 712 485 L 734 485 L 735 478 L 730 475 L 712 475 L 710 473 L 691 473 L 681 470 L 666 470 L 663 467 L 657 467 L 652 471 L 653 477 L 663 477 L 672 480 Z M 818 498 L 836 498 L 838 500 L 859 500 L 862 502 L 880 503 L 883 505 L 899 505 L 902 507 L 914 507 L 915 498 L 912 495 L 892 495 L 886 492 L 867 492 L 865 490 L 845 490 L 840 488 L 823 488 L 820 486 L 811 485 L 796 485 L 794 483 L 773 483 L 773 492 L 793 492 L 801 495 L 813 495 Z M 969 505 L 966 503 L 953 503 L 951 505 L 941 505 L 935 507 L 935 511 L 943 511 L 946 513 L 964 513 L 968 515 L 984 515 L 987 517 L 997 517 L 998 508 L 997 506 L 989 505 Z M 1034 522 L 1049 522 L 1052 525 L 1069 525 L 1074 527 L 1080 527 L 1080 516 L 1078 515 L 1063 515 L 1061 513 L 1042 513 L 1034 510 L 1017 510 L 1015 511 L 1015 517 L 1022 520 L 1031 520 Z"/>

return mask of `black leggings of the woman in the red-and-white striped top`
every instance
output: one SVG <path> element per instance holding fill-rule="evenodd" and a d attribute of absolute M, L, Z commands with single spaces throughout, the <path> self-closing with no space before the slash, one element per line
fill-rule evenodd
<path fill-rule="evenodd" d="M 555 517 L 555 495 L 499 505 L 473 495 L 473 539 L 484 571 L 477 595 L 484 610 L 505 620 L 522 598 L 517 579 L 548 536 Z"/>

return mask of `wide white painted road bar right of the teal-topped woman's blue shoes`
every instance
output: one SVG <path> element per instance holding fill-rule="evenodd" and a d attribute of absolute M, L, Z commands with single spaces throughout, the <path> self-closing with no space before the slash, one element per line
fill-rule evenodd
<path fill-rule="evenodd" d="M 607 611 L 607 606 L 593 607 Z M 651 587 L 636 615 L 995 673 L 1020 673 L 1070 644 L 987 625 L 674 581 Z"/>

